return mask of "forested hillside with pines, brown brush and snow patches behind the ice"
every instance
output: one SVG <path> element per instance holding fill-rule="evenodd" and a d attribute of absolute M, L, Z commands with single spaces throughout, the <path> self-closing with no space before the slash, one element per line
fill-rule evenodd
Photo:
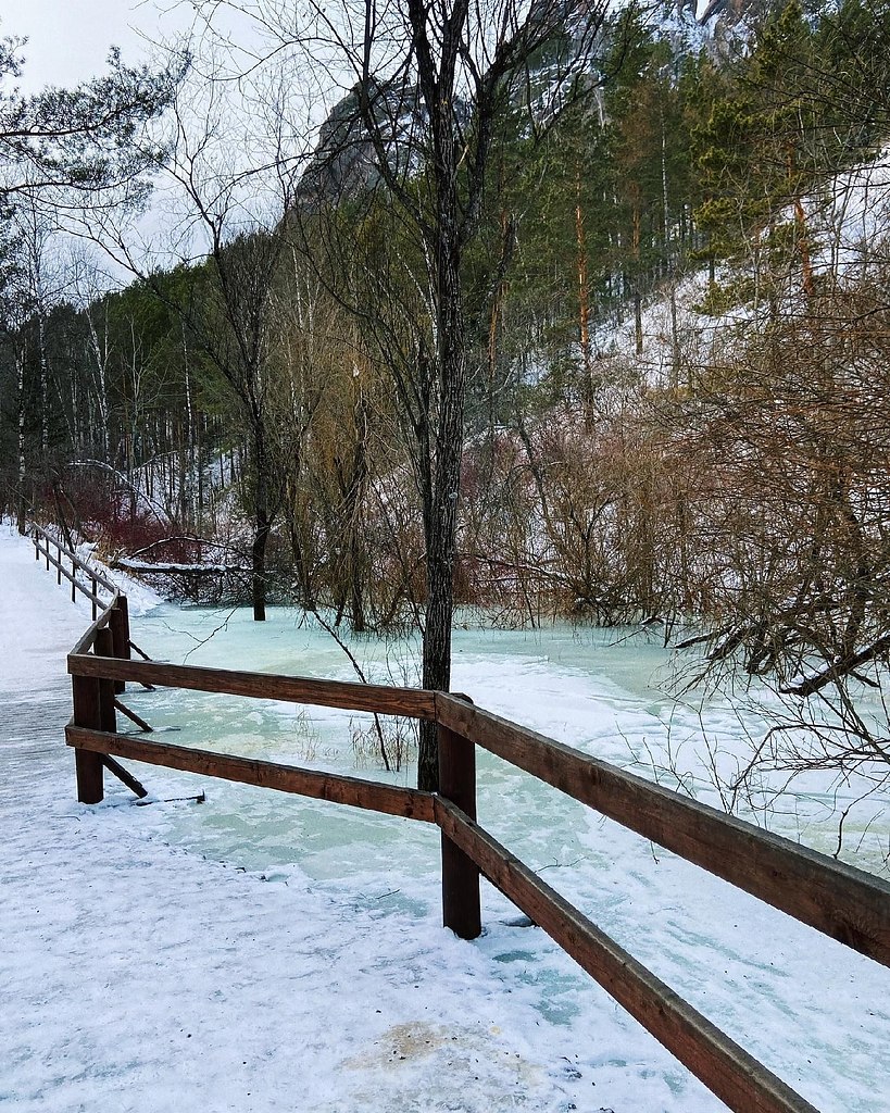
<path fill-rule="evenodd" d="M 447 312 L 422 83 L 359 81 L 265 226 L 185 173 L 174 104 L 208 249 L 126 287 L 3 194 L 0 501 L 380 632 L 423 624 L 454 513 L 458 603 L 701 641 L 825 761 L 886 760 L 856 691 L 890 662 L 890 7 L 708 11 L 532 19 L 524 79 L 478 76 Z"/>

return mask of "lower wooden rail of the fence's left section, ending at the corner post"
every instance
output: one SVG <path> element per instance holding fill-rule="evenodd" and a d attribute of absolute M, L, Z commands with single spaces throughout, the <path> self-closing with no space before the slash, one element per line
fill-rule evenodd
<path fill-rule="evenodd" d="M 255 785 L 258 788 L 271 788 L 278 792 L 308 796 L 316 800 L 348 804 L 354 808 L 382 811 L 387 816 L 402 816 L 405 819 L 421 819 L 426 823 L 435 821 L 433 795 L 421 792 L 415 788 L 380 785 L 376 781 L 360 780 L 357 777 L 317 772 L 313 769 L 303 769 L 299 766 L 234 757 L 229 754 L 214 754 L 210 750 L 192 749 L 188 746 L 171 746 L 167 742 L 134 738 L 131 735 L 88 730 L 72 723 L 66 727 L 65 737 L 68 745 L 76 750 L 102 755 L 113 754 L 115 757 L 130 758 L 134 761 L 148 761 L 151 765 L 180 769 L 184 772 L 219 777 L 224 780 L 238 781 L 241 785 Z"/>

